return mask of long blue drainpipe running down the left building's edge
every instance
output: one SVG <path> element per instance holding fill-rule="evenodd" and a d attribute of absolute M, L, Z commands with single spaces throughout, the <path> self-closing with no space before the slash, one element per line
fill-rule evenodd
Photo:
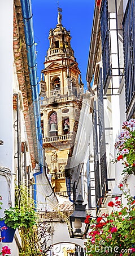
<path fill-rule="evenodd" d="M 32 5 L 31 0 L 20 0 L 21 9 L 24 22 L 24 32 L 25 32 L 25 43 L 27 46 L 27 59 L 29 67 L 29 77 L 31 81 L 32 90 L 32 100 L 33 100 L 33 112 L 34 121 L 36 125 L 36 141 L 38 148 L 38 164 L 40 166 L 40 171 L 34 174 L 35 184 L 34 184 L 34 203 L 36 208 L 37 201 L 37 184 L 36 176 L 42 174 L 43 172 L 43 151 L 42 151 L 42 131 L 41 131 L 41 117 L 40 117 L 40 101 L 39 101 L 39 87 L 37 81 L 37 63 L 34 48 L 34 32 L 33 32 L 33 19 L 32 19 Z"/>

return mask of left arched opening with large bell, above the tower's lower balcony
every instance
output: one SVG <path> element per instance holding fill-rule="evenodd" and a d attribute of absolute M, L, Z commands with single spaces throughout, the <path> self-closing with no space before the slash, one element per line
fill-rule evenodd
<path fill-rule="evenodd" d="M 56 112 L 51 112 L 49 114 L 49 136 L 58 135 L 58 123 L 57 123 L 57 114 Z"/>

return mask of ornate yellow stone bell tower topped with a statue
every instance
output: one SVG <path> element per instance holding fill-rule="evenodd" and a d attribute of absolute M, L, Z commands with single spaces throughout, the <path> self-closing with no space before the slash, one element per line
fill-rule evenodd
<path fill-rule="evenodd" d="M 71 35 L 62 26 L 60 13 L 58 24 L 49 32 L 49 41 L 40 82 L 43 148 L 54 192 L 66 196 L 64 167 L 72 146 L 73 125 L 83 84 L 79 81 L 80 70 L 71 47 Z"/>

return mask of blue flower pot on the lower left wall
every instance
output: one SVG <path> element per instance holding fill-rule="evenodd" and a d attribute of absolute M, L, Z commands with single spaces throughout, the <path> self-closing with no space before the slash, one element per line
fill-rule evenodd
<path fill-rule="evenodd" d="M 0 226 L 6 226 L 5 221 L 0 221 Z M 3 243 L 11 243 L 15 234 L 15 229 L 10 228 L 7 226 L 7 229 L 1 230 L 1 237 L 5 237 L 5 239 L 2 239 Z"/>

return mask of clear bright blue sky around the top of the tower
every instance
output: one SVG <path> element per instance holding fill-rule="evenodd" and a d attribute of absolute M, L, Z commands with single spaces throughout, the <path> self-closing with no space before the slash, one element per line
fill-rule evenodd
<path fill-rule="evenodd" d="M 37 43 L 37 75 L 43 69 L 45 55 L 49 48 L 49 30 L 57 24 L 57 0 L 31 0 L 33 11 L 34 38 Z M 86 88 L 86 70 L 92 31 L 95 0 L 59 0 L 62 8 L 62 24 L 71 31 L 71 46 Z"/>

